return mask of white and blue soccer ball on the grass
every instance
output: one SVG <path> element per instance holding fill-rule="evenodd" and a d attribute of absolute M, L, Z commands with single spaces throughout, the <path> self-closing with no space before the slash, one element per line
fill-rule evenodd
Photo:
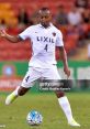
<path fill-rule="evenodd" d="M 38 126 L 42 123 L 43 117 L 38 111 L 32 110 L 27 114 L 26 121 L 31 126 Z"/>

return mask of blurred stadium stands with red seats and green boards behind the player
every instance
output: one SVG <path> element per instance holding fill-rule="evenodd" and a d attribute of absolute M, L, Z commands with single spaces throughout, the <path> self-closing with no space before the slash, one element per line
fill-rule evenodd
<path fill-rule="evenodd" d="M 0 29 L 9 34 L 19 34 L 25 28 L 38 23 L 37 11 L 48 7 L 53 13 L 53 23 L 63 32 L 64 43 L 71 68 L 74 89 L 90 88 L 90 0 L 0 0 Z M 10 90 L 18 86 L 31 57 L 29 41 L 11 44 L 0 39 L 0 90 Z M 58 69 L 63 64 L 56 49 Z M 76 80 L 77 79 L 77 80 Z"/>

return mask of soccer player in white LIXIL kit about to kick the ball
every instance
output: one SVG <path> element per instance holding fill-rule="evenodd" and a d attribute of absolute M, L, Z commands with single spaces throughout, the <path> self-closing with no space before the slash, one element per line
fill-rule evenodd
<path fill-rule="evenodd" d="M 18 96 L 24 95 L 38 78 L 60 79 L 56 67 L 55 46 L 59 47 L 65 74 L 67 77 L 70 76 L 61 32 L 50 22 L 52 13 L 48 8 L 42 8 L 38 11 L 38 14 L 40 23 L 29 26 L 19 35 L 9 35 L 4 30 L 0 31 L 0 35 L 12 43 L 19 43 L 20 41 L 30 39 L 33 50 L 29 63 L 29 71 L 23 78 L 21 86 L 7 97 L 5 105 L 10 105 Z M 70 104 L 64 92 L 56 92 L 56 96 L 66 115 L 68 123 L 70 126 L 79 127 L 80 125 L 76 122 L 72 117 Z"/>

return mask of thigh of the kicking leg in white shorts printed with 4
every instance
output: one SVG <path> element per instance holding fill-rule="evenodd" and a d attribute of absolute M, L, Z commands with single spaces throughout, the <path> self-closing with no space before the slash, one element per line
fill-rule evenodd
<path fill-rule="evenodd" d="M 35 80 L 41 77 L 41 73 L 33 67 L 29 68 L 26 75 L 24 76 L 21 87 L 30 88 L 34 85 Z"/>

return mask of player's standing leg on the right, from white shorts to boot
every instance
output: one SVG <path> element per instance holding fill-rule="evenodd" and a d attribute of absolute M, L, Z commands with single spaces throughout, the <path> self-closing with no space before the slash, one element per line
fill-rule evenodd
<path fill-rule="evenodd" d="M 52 75 L 52 76 L 50 76 Z M 54 66 L 53 68 L 48 69 L 45 74 L 44 74 L 44 77 L 46 77 L 47 79 L 60 79 L 60 76 L 58 74 L 58 71 L 57 71 L 57 67 Z M 70 107 L 70 104 L 69 104 L 69 100 L 67 98 L 67 96 L 65 95 L 64 92 L 61 90 L 58 90 L 58 92 L 55 92 L 56 93 L 56 96 L 57 96 L 57 99 L 58 99 L 58 103 L 64 111 L 64 114 L 66 115 L 66 118 L 68 120 L 68 123 L 70 126 L 80 126 L 79 123 L 77 123 L 72 117 L 72 112 L 71 112 L 71 107 Z"/>

